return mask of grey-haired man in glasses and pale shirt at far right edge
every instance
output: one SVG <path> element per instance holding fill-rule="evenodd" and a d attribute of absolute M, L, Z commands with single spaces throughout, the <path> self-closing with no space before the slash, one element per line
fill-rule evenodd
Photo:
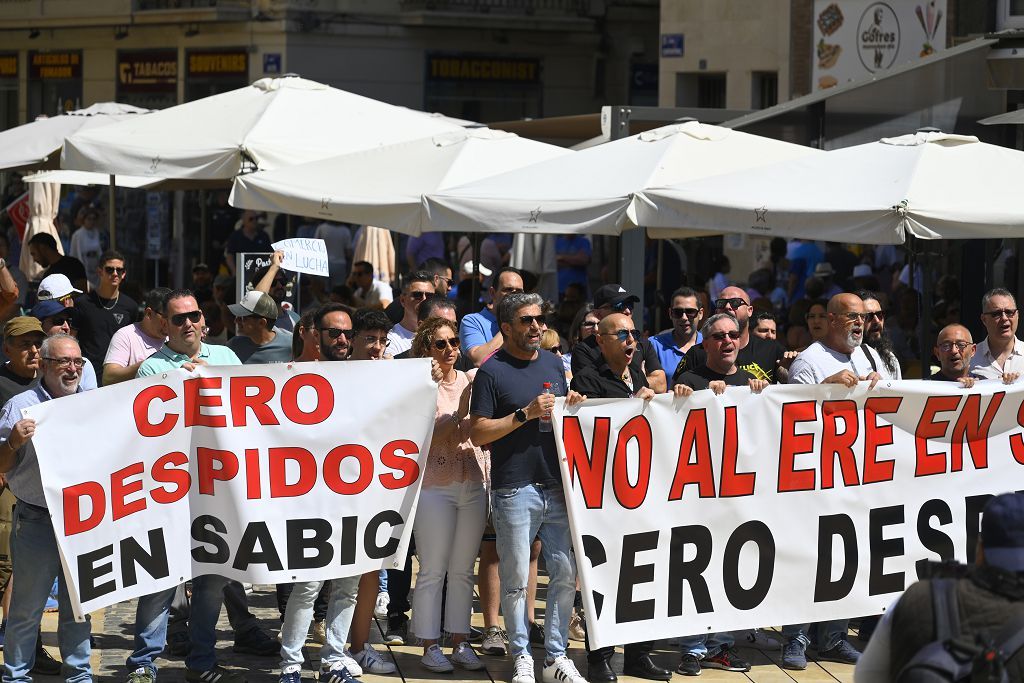
<path fill-rule="evenodd" d="M 981 379 L 1016 379 L 1024 372 L 1024 342 L 1017 338 L 1017 299 L 997 288 L 981 298 L 981 323 L 987 333 L 971 358 L 971 374 Z"/>

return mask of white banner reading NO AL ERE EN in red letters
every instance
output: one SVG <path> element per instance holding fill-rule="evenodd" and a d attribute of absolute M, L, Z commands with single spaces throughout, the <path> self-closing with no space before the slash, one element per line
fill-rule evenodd
<path fill-rule="evenodd" d="M 921 381 L 559 401 L 591 646 L 881 613 L 1024 488 L 1022 401 Z"/>

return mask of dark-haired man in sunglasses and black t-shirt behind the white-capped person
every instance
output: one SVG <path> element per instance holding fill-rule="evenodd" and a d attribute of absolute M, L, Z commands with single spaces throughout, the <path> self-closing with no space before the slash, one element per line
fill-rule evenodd
<path fill-rule="evenodd" d="M 125 258 L 119 252 L 103 252 L 96 272 L 99 286 L 75 300 L 75 322 L 82 354 L 94 368 L 100 368 L 114 333 L 135 322 L 138 304 L 121 293 L 127 273 Z"/>

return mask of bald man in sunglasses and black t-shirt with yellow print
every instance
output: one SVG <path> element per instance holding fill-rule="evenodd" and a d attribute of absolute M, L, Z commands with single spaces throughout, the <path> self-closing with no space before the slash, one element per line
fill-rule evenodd
<path fill-rule="evenodd" d="M 738 353 L 736 366 L 759 380 L 770 384 L 784 384 L 790 362 L 796 353 L 786 353 L 777 342 L 761 339 L 751 334 L 750 322 L 754 307 L 748 300 L 746 292 L 738 287 L 726 287 L 720 298 L 712 302 L 717 313 L 729 313 L 739 325 Z M 701 345 L 694 345 L 679 361 L 674 375 L 697 370 L 706 365 L 706 352 Z M 672 384 L 679 384 L 675 377 Z"/>

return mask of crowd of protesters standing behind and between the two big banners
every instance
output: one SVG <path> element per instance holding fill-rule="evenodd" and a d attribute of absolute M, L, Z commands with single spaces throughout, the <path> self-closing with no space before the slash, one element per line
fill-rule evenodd
<path fill-rule="evenodd" d="M 225 250 L 249 250 L 242 241 L 256 240 L 243 223 L 242 237 L 228 237 Z M 784 271 L 786 288 L 771 273 L 752 274 L 749 286 L 739 287 L 728 278 L 727 261 L 720 261 L 707 290 L 675 289 L 664 311 L 671 327 L 647 334 L 634 322 L 639 297 L 617 284 L 600 285 L 583 297 L 585 271 L 582 280 L 559 279 L 564 292 L 574 290 L 578 297 L 579 305 L 566 307 L 564 298 L 551 302 L 529 291 L 535 288 L 527 285 L 537 283 L 529 272 L 499 264 L 474 268 L 469 261 L 468 269 L 465 263 L 453 269 L 443 250 L 417 263 L 396 289 L 374 279 L 373 263 L 356 261 L 339 279 L 343 286 L 322 283 L 301 311 L 287 305 L 293 281 L 282 269 L 281 252 L 237 303 L 236 281 L 201 264 L 190 290 L 157 288 L 138 304 L 122 292 L 128 278 L 123 255 L 105 251 L 92 272 L 81 272 L 81 261 L 75 265 L 74 257 L 60 256 L 47 237 L 29 243 L 47 268 L 35 302 L 3 328 L 0 471 L 16 498 L 12 567 L 5 571 L 5 681 L 29 680 L 30 671 L 59 672 L 69 681 L 91 678 L 90 624 L 74 621 L 62 580 L 56 595 L 62 666 L 40 644 L 41 614 L 60 571 L 32 441 L 35 423 L 22 417 L 27 405 L 199 365 L 430 358 L 438 398 L 414 523 L 415 593 L 411 561 L 397 570 L 279 586 L 279 642 L 249 611 L 241 584 L 198 577 L 190 599 L 178 587 L 138 600 L 129 681 L 153 683 L 165 647 L 185 657 L 190 682 L 244 680 L 217 664 L 215 625 L 224 605 L 234 650 L 280 656 L 283 683 L 301 680 L 310 625 L 323 645 L 321 680 L 353 683 L 362 672 L 394 673 L 394 665 L 370 644 L 374 616 L 386 620 L 386 643 L 419 639 L 422 666 L 432 672 L 480 669 L 481 653 L 508 655 L 514 660 L 512 683 L 534 683 L 531 644 L 538 644 L 544 649 L 544 683 L 613 683 L 614 648 L 588 648 L 586 677 L 565 654 L 570 638 L 586 640 L 586 629 L 550 429 L 556 397 L 569 404 L 668 392 L 685 399 L 694 391 L 722 393 L 727 387 L 873 387 L 902 377 L 899 345 L 887 327 L 888 301 L 900 289 L 887 296 L 861 287 L 863 278 L 853 275 L 863 263 L 851 267 L 852 280 L 861 278 L 858 287 L 839 288 L 829 262 L 808 266 L 813 259 L 807 255 L 818 249 L 811 243 L 797 242 L 790 253 L 799 267 Z M 569 248 L 575 256 L 566 267 L 579 269 L 585 250 Z M 345 256 L 332 264 L 349 267 Z M 10 294 L 16 284 L 5 284 L 5 267 L 0 265 L 0 292 Z M 461 298 L 453 292 L 454 273 L 474 271 L 487 278 L 486 286 L 480 305 L 467 311 L 465 289 Z M 902 279 L 898 271 L 893 275 L 896 283 Z M 14 294 L 7 300 L 16 300 Z M 779 319 L 780 301 L 786 321 Z M 932 380 L 964 388 L 979 379 L 1017 381 L 1024 342 L 1016 336 L 1016 298 L 994 289 L 985 294 L 982 311 L 986 337 L 977 344 L 958 322 L 938 332 L 933 351 L 939 368 Z M 541 557 L 549 575 L 543 626 L 534 614 Z M 478 634 L 470 626 L 474 589 L 484 623 Z M 764 645 L 767 636 L 756 626 L 740 637 Z M 788 625 L 775 646 L 791 670 L 808 666 L 808 648 L 818 659 L 856 664 L 860 652 L 848 632 L 846 620 Z M 627 645 L 624 673 L 664 681 L 674 672 L 696 676 L 708 668 L 751 667 L 731 633 L 685 635 L 671 667 L 655 661 L 652 648 L 650 642 Z"/>

